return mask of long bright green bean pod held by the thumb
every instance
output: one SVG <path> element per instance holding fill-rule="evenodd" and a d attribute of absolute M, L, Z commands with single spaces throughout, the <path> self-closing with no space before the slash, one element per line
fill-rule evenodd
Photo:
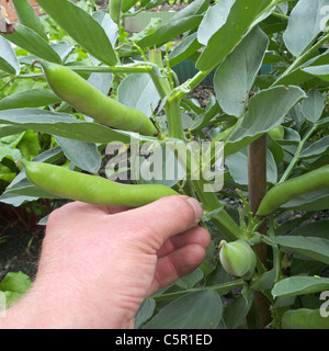
<path fill-rule="evenodd" d="M 64 199 L 106 206 L 144 206 L 178 193 L 160 184 L 122 184 L 67 168 L 22 160 L 29 180 L 42 190 Z"/>

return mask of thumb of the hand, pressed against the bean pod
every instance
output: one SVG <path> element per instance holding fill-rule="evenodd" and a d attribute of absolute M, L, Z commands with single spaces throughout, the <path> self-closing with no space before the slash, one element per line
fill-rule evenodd
<path fill-rule="evenodd" d="M 158 251 L 170 237 L 197 226 L 202 207 L 195 199 L 174 195 L 117 216 L 135 238 Z"/>

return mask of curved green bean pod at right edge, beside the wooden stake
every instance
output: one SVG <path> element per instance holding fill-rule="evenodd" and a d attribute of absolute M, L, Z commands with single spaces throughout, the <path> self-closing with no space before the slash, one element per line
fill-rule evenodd
<path fill-rule="evenodd" d="M 257 215 L 268 216 L 292 199 L 321 189 L 329 189 L 329 165 L 274 185 L 260 203 Z"/>

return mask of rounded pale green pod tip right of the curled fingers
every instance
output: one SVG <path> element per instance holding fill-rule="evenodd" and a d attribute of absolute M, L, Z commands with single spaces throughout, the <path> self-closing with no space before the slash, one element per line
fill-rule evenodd
<path fill-rule="evenodd" d="M 256 268 L 256 253 L 243 240 L 219 242 L 219 261 L 227 273 L 249 280 Z"/>

